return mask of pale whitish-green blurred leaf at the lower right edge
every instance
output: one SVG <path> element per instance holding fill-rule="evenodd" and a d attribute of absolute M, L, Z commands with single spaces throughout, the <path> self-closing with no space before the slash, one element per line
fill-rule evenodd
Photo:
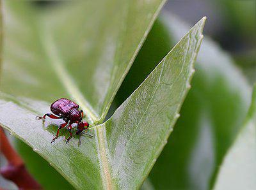
<path fill-rule="evenodd" d="M 214 189 L 256 188 L 256 85 L 244 127 L 221 165 Z"/>

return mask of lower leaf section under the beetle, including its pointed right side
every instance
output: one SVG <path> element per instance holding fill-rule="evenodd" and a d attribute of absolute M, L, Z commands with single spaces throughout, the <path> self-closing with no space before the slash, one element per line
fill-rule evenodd
<path fill-rule="evenodd" d="M 51 144 L 56 124 L 35 115 L 49 103 L 1 93 L 0 124 L 44 157 L 77 189 L 138 188 L 163 149 L 188 92 L 202 41 L 200 20 L 108 121 L 65 145 L 67 131 Z"/>

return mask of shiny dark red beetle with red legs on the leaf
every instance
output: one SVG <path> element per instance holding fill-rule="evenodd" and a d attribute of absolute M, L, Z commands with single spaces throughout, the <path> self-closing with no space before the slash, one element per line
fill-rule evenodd
<path fill-rule="evenodd" d="M 90 124 L 88 122 L 83 122 L 83 110 L 78 110 L 79 105 L 75 103 L 74 101 L 67 99 L 67 98 L 60 98 L 54 101 L 54 103 L 51 104 L 51 112 L 54 113 L 45 113 L 44 116 L 36 116 L 37 120 L 43 119 L 45 120 L 45 117 L 50 117 L 51 119 L 63 119 L 65 123 L 60 124 L 56 136 L 52 138 L 51 143 L 53 143 L 59 136 L 60 129 L 66 128 L 69 131 L 69 137 L 66 139 L 66 144 L 70 141 L 72 138 L 72 124 L 76 123 L 77 124 L 77 131 L 76 135 L 81 135 L 83 131 L 88 129 Z M 88 134 L 86 134 L 88 135 Z M 93 137 L 92 135 L 89 135 L 90 137 Z M 80 138 L 79 138 L 79 143 L 80 143 Z"/>

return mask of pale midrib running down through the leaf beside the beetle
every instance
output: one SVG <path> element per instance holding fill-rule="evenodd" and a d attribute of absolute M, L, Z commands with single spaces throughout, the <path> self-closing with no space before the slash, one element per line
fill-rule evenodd
<path fill-rule="evenodd" d="M 49 58 L 49 63 L 52 65 L 52 68 L 54 68 L 56 76 L 58 76 L 61 84 L 63 85 L 63 87 L 65 87 L 65 90 L 68 92 L 68 94 L 70 94 L 70 97 L 76 100 L 76 102 L 81 106 L 84 112 L 86 112 L 86 115 L 88 115 L 88 119 L 90 120 L 89 122 L 92 123 L 92 126 L 94 126 L 95 124 L 97 124 L 97 122 L 100 121 L 99 116 L 97 115 L 97 113 L 95 113 L 95 110 L 93 110 L 92 106 L 90 106 L 88 101 L 83 98 L 83 94 L 81 94 L 81 92 L 77 88 L 76 83 L 74 82 L 74 80 L 72 80 L 72 77 L 65 69 L 63 61 L 60 59 L 60 56 L 58 54 L 58 49 L 56 48 L 51 33 L 47 30 L 47 27 L 44 27 L 44 29 L 40 31 L 42 31 L 42 37 L 40 38 L 40 40 L 42 41 L 42 46 L 45 50 L 45 54 Z M 101 164 L 100 170 L 102 170 L 100 172 L 102 175 L 102 185 L 106 187 L 106 189 L 113 189 L 103 131 L 99 125 L 96 125 L 94 128 L 95 134 L 97 134 L 97 136 L 95 136 L 95 142 L 98 145 L 97 152 L 99 154 L 99 162 Z"/>

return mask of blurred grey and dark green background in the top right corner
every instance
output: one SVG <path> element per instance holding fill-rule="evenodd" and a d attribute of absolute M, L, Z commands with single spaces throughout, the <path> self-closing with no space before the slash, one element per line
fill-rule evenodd
<path fill-rule="evenodd" d="M 193 24 L 207 16 L 204 34 L 228 51 L 251 84 L 256 80 L 256 1 L 172 0 L 164 10 Z"/>

